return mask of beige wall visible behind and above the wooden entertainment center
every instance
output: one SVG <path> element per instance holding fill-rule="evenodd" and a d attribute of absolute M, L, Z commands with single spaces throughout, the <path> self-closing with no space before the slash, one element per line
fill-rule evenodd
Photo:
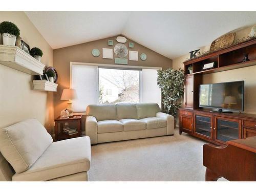
<path fill-rule="evenodd" d="M 236 32 L 236 39 L 247 37 L 251 31 L 252 26 Z M 200 51 L 209 50 L 210 44 L 200 48 Z M 250 56 L 249 56 L 250 57 Z M 189 58 L 189 53 L 181 57 L 173 59 L 174 69 L 183 69 L 183 62 Z M 256 81 L 255 81 L 256 66 L 250 66 L 240 69 L 233 69 L 229 71 L 222 71 L 217 73 L 203 75 L 203 83 L 217 83 L 225 81 L 245 81 L 245 106 L 244 113 L 256 114 Z"/>

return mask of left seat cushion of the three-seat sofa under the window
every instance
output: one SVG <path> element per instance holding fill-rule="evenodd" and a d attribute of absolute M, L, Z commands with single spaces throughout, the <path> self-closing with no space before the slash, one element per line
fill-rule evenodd
<path fill-rule="evenodd" d="M 98 133 L 123 131 L 123 124 L 117 120 L 98 121 Z"/>

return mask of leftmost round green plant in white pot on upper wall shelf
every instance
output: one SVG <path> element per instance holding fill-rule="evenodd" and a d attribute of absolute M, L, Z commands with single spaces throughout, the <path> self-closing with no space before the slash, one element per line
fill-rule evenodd
<path fill-rule="evenodd" d="M 19 36 L 18 27 L 12 22 L 2 22 L 0 33 L 3 35 L 3 43 L 7 46 L 15 46 L 16 38 Z"/>

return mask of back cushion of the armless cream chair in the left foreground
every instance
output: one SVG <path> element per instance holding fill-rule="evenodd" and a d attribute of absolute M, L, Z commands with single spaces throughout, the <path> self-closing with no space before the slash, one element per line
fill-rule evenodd
<path fill-rule="evenodd" d="M 31 167 L 52 143 L 52 137 L 36 119 L 0 130 L 0 151 L 16 173 Z"/>

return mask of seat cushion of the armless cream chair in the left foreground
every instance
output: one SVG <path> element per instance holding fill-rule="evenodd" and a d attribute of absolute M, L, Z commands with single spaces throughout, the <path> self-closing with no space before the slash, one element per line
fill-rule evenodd
<path fill-rule="evenodd" d="M 48 181 L 87 172 L 91 166 L 89 137 L 53 142 L 26 172 L 15 174 L 13 181 Z"/>

